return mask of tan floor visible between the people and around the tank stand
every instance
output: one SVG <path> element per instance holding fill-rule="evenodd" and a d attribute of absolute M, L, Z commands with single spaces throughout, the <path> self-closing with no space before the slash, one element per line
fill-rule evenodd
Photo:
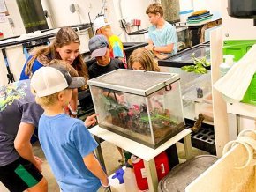
<path fill-rule="evenodd" d="M 34 144 L 34 154 L 41 159 L 44 160 L 42 164 L 42 174 L 46 177 L 49 183 L 49 192 L 59 192 L 59 188 L 56 184 L 56 180 L 51 173 L 51 170 L 49 168 L 49 164 L 47 163 L 47 160 L 45 159 L 43 152 L 41 151 L 41 146 L 39 143 Z M 109 144 L 107 142 L 102 142 L 102 151 L 103 156 L 105 159 L 105 164 L 107 167 L 107 173 L 108 175 L 113 174 L 115 170 L 118 168 L 118 159 L 121 158 L 119 152 L 117 151 L 117 147 L 113 144 Z M 183 144 L 178 143 L 177 144 L 177 151 L 179 154 L 179 158 L 184 158 L 184 146 Z M 200 154 L 207 154 L 205 151 L 200 151 L 195 148 L 192 148 L 192 156 L 200 155 Z M 7 192 L 8 190 L 4 187 L 2 183 L 0 183 L 0 191 L 1 192 Z M 102 189 L 100 191 L 103 191 Z M 124 192 L 124 191 L 122 191 Z"/>

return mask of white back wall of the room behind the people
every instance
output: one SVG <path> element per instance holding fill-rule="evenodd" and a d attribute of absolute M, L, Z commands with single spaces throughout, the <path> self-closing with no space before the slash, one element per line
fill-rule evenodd
<path fill-rule="evenodd" d="M 221 0 L 192 0 L 194 11 L 207 9 L 213 13 L 220 13 Z M 147 15 L 145 13 L 148 4 L 155 2 L 154 0 L 107 0 L 106 16 L 112 24 L 113 31 L 119 35 L 122 41 L 129 41 L 127 35 L 125 36 L 124 30 L 119 26 L 120 18 L 138 18 L 141 20 L 140 29 L 150 26 Z M 160 2 L 160 1 L 158 1 Z M 184 4 L 184 0 L 180 0 L 180 4 Z M 5 1 L 10 17 L 14 21 L 14 33 L 12 33 L 9 23 L 0 23 L 0 30 L 4 31 L 4 38 L 26 33 L 22 23 L 22 19 L 19 14 L 19 9 L 15 0 Z M 49 28 L 60 26 L 72 26 L 80 23 L 88 23 L 88 12 L 92 21 L 96 15 L 101 11 L 102 0 L 41 0 L 41 4 L 44 10 L 48 10 L 51 14 L 52 22 L 50 18 L 47 18 L 49 22 Z M 79 5 L 79 14 L 77 12 L 72 13 L 70 11 L 71 4 Z M 121 5 L 121 10 L 119 7 Z M 79 17 L 80 16 L 80 17 Z M 137 28 L 133 27 L 132 31 Z"/>

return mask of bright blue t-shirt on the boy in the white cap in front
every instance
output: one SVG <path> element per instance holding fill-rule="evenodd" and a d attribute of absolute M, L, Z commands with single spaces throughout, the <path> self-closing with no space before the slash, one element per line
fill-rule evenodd
<path fill-rule="evenodd" d="M 94 192 L 101 187 L 83 161 L 98 146 L 84 122 L 67 114 L 42 114 L 39 140 L 62 191 Z"/>

